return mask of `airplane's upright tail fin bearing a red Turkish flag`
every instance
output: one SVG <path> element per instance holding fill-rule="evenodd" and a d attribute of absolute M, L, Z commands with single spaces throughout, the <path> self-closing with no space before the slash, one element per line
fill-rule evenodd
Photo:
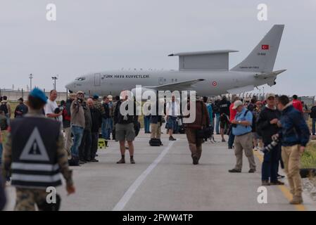
<path fill-rule="evenodd" d="M 283 29 L 284 25 L 274 25 L 247 58 L 232 68 L 232 70 L 272 72 Z"/>

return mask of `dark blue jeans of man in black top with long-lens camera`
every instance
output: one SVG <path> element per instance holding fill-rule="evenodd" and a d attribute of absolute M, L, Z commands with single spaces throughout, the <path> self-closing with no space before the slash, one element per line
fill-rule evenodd
<path fill-rule="evenodd" d="M 267 146 L 269 143 L 265 143 Z M 263 157 L 263 167 L 261 169 L 261 175 L 263 181 L 276 182 L 277 172 L 279 169 L 279 159 L 281 158 L 281 147 L 278 145 L 269 153 L 265 153 Z"/>

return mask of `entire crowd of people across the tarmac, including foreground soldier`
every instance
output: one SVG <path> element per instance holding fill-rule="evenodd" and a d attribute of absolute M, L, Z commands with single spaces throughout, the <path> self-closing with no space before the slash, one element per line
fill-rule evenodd
<path fill-rule="evenodd" d="M 18 100 L 14 110 L 16 120 L 12 121 L 8 98 L 1 98 L 0 156 L 3 155 L 1 162 L 4 179 L 9 180 L 11 176 L 12 185 L 17 186 L 15 210 L 34 210 L 34 204 L 40 205 L 40 201 L 44 199 L 44 192 L 41 189 L 43 186 L 61 184 L 61 181 L 53 176 L 57 172 L 57 164 L 66 180 L 68 193 L 74 193 L 75 186 L 68 165 L 80 166 L 88 162 L 99 162 L 96 159 L 99 138 L 110 140 L 112 136 L 113 140 L 119 142 L 118 164 L 125 163 L 126 150 L 129 151 L 129 162 L 135 164 L 133 141 L 139 132 L 140 124 L 134 99 L 127 96 L 103 96 L 100 101 L 98 95 L 86 97 L 82 91 L 69 94 L 68 99 L 61 101 L 59 105 L 56 102 L 57 98 L 56 90 L 52 90 L 46 97 L 41 90 L 34 89 L 28 96 L 27 105 L 23 98 Z M 236 156 L 236 165 L 229 169 L 229 173 L 241 172 L 244 153 L 248 158 L 248 172 L 255 173 L 257 165 L 253 150 L 261 150 L 264 154 L 261 169 L 262 185 L 284 185 L 284 182 L 279 180 L 282 178 L 279 175 L 281 165 L 293 194 L 291 204 L 301 204 L 303 198 L 300 158 L 310 139 L 310 131 L 306 124 L 308 117 L 312 118 L 312 134 L 315 135 L 316 105 L 308 108 L 308 105 L 298 100 L 298 96 L 294 95 L 292 99 L 290 101 L 287 96 L 267 94 L 265 101 L 258 101 L 255 98 L 244 101 L 232 96 L 231 102 L 223 96 L 213 102 L 205 96 L 196 98 L 195 120 L 183 123 L 182 119 L 185 117 L 182 115 L 180 103 L 172 96 L 170 102 L 164 103 L 163 113 L 166 120 L 158 113 L 157 104 L 156 115 L 144 115 L 144 130 L 145 134 L 151 134 L 151 146 L 163 146 L 160 136 L 164 123 L 169 141 L 176 141 L 173 135 L 179 129 L 183 129 L 194 165 L 198 165 L 201 159 L 203 143 L 215 141 L 213 133 L 220 134 L 222 142 L 226 142 L 227 135 L 227 147 L 234 149 Z M 125 108 L 128 111 L 131 101 L 134 104 L 134 113 L 123 114 L 120 109 Z M 146 101 L 146 104 L 150 105 L 150 101 Z M 191 102 L 188 101 L 188 108 L 190 105 Z M 1 130 L 8 128 L 10 134 L 3 148 Z M 39 140 L 38 136 L 41 136 L 42 140 Z M 30 139 L 35 139 L 36 143 L 29 143 Z M 30 149 L 25 153 L 25 146 L 32 149 L 34 155 L 30 155 Z M 43 149 L 47 151 L 46 156 L 43 155 Z M 34 176 L 41 172 L 41 168 L 37 172 L 26 169 L 32 166 L 39 167 L 38 151 L 42 154 L 41 157 L 49 158 L 47 165 L 51 169 L 45 171 L 47 167 L 41 167 L 43 173 L 49 173 L 46 179 L 49 184 L 46 181 L 27 181 L 23 177 L 32 172 Z M 1 182 L 3 181 L 0 179 Z M 28 196 L 27 201 L 20 197 L 25 194 Z M 35 194 L 42 198 L 35 199 Z M 3 200 L 1 196 L 0 190 L 0 199 Z"/>

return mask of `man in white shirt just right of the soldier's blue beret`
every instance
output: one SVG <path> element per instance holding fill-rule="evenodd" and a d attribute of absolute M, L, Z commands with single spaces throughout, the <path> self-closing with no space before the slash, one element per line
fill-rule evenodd
<path fill-rule="evenodd" d="M 57 91 L 51 90 L 49 94 L 49 99 L 45 105 L 45 115 L 46 117 L 55 119 L 59 122 L 63 122 L 63 108 L 59 108 L 56 99 L 57 99 Z"/>

